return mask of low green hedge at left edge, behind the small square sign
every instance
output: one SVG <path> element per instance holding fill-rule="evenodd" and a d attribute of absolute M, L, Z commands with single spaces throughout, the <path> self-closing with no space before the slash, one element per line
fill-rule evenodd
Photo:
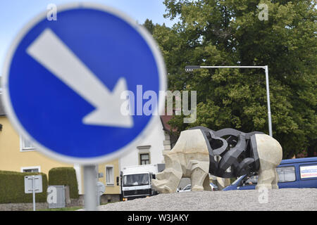
<path fill-rule="evenodd" d="M 24 193 L 24 176 L 42 175 L 43 192 L 35 193 L 37 203 L 46 203 L 47 176 L 39 172 L 25 173 L 0 170 L 0 203 L 32 203 L 32 194 Z"/>

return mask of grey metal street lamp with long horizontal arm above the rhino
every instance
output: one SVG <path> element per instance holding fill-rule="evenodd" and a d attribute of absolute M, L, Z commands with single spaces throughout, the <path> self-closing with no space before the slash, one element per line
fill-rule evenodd
<path fill-rule="evenodd" d="M 268 134 L 270 136 L 272 135 L 272 120 L 271 120 L 271 103 L 270 103 L 270 89 L 268 85 L 268 66 L 267 65 L 250 65 L 250 66 L 244 66 L 244 65 L 229 65 L 229 66 L 201 66 L 201 65 L 187 65 L 185 67 L 186 72 L 192 72 L 193 70 L 199 70 L 199 69 L 211 69 L 211 68 L 261 68 L 265 70 L 266 72 L 266 98 L 268 102 Z"/>

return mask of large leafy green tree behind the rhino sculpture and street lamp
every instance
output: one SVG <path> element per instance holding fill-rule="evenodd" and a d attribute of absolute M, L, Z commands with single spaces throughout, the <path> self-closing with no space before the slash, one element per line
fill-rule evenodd
<path fill-rule="evenodd" d="M 259 4 L 268 6 L 260 20 Z M 198 70 L 186 65 L 268 65 L 273 137 L 284 158 L 316 154 L 316 0 L 165 0 L 173 27 L 151 30 L 168 69 L 168 89 L 197 91 L 197 125 L 268 134 L 266 81 L 261 69 Z M 149 23 L 149 21 L 147 22 Z M 149 28 L 148 28 L 149 29 Z"/>

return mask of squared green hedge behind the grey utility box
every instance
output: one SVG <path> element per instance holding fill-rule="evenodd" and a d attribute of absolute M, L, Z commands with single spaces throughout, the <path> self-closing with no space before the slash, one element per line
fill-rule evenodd
<path fill-rule="evenodd" d="M 49 185 L 69 186 L 70 198 L 78 198 L 78 183 L 73 167 L 55 167 L 49 170 Z"/>

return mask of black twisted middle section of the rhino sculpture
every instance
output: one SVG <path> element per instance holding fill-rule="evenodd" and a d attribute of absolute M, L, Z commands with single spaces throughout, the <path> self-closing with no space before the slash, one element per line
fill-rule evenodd
<path fill-rule="evenodd" d="M 218 131 L 206 127 L 191 129 L 200 129 L 204 135 L 209 150 L 209 172 L 214 176 L 230 178 L 259 171 L 255 134 L 263 134 L 262 132 L 244 133 L 231 128 Z"/>

